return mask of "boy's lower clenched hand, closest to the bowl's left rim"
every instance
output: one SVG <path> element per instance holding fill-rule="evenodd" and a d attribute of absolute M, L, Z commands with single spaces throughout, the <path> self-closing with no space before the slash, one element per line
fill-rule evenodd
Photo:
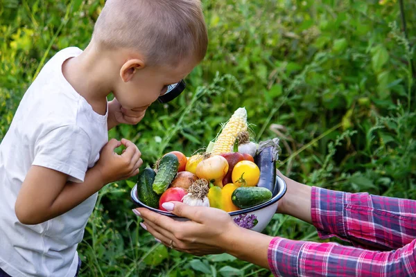
<path fill-rule="evenodd" d="M 114 149 L 120 145 L 126 147 L 121 155 L 114 152 Z M 143 164 L 140 157 L 141 152 L 135 143 L 127 139 L 121 139 L 121 141 L 111 139 L 101 150 L 96 167 L 100 170 L 104 183 L 109 184 L 137 175 L 139 167 Z"/>

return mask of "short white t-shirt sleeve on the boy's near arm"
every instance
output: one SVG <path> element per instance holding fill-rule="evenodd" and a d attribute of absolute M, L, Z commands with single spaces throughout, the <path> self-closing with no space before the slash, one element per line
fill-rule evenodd
<path fill-rule="evenodd" d="M 75 125 L 58 127 L 37 139 L 32 165 L 62 172 L 69 181 L 83 182 L 91 149 L 83 129 Z"/>

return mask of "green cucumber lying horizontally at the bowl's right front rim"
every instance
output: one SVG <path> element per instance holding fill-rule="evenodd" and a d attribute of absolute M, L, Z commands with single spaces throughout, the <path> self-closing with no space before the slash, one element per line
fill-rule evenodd
<path fill-rule="evenodd" d="M 272 199 L 272 192 L 268 188 L 257 186 L 242 186 L 234 190 L 231 201 L 239 208 L 250 208 Z"/>

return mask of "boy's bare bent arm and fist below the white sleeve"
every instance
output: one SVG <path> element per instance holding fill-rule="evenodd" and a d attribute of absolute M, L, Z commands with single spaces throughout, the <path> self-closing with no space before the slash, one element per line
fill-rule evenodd
<path fill-rule="evenodd" d="M 126 146 L 119 155 L 114 149 Z M 78 206 L 105 184 L 137 175 L 141 166 L 140 151 L 134 143 L 112 139 L 101 151 L 101 157 L 85 175 L 83 183 L 67 182 L 67 175 L 32 166 L 26 175 L 15 204 L 17 219 L 23 224 L 39 224 Z"/>

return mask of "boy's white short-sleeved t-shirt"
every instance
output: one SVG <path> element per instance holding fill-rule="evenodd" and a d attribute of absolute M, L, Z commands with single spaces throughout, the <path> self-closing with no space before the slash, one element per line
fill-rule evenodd
<path fill-rule="evenodd" d="M 62 63 L 80 53 L 79 48 L 65 48 L 45 64 L 0 144 L 0 268 L 11 276 L 76 274 L 76 247 L 83 240 L 97 193 L 71 211 L 36 225 L 17 220 L 15 202 L 32 165 L 83 182 L 87 168 L 94 166 L 108 141 L 107 114 L 96 114 L 62 74 Z"/>

